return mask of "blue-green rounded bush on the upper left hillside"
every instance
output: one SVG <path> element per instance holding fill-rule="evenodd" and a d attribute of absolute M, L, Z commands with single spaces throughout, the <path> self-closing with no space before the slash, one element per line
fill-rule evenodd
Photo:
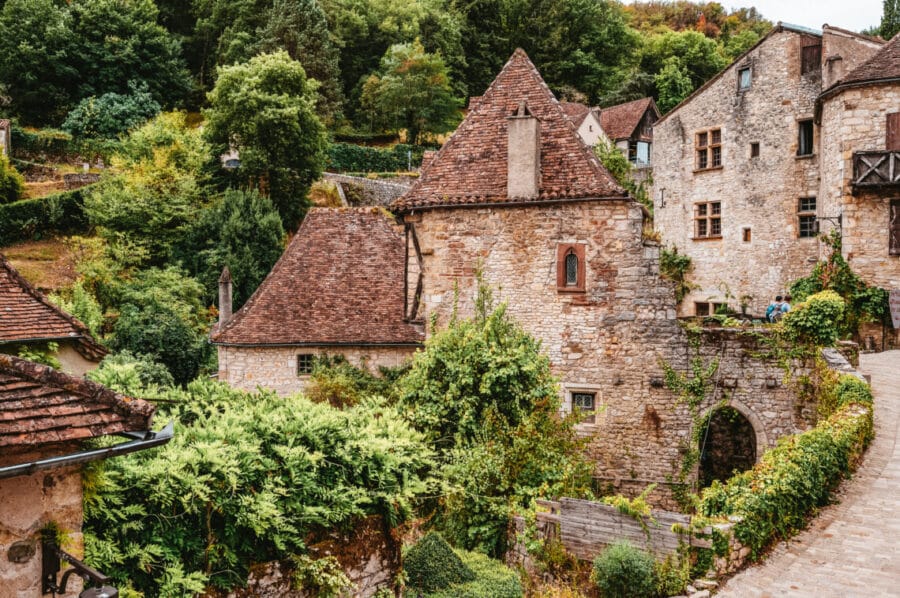
<path fill-rule="evenodd" d="M 128 94 L 105 93 L 84 98 L 69 112 L 62 128 L 79 139 L 118 137 L 153 118 L 160 106 L 146 83 L 128 83 Z"/>

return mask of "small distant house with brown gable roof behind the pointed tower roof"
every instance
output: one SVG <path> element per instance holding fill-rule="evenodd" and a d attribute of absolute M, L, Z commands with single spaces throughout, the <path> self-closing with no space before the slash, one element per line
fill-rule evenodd
<path fill-rule="evenodd" d="M 600 126 L 636 168 L 650 166 L 653 124 L 659 120 L 659 108 L 653 98 L 609 106 L 600 111 Z"/>

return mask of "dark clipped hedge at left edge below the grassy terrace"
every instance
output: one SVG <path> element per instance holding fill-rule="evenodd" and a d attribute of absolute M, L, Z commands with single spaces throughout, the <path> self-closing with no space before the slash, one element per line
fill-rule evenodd
<path fill-rule="evenodd" d="M 0 205 L 0 247 L 39 239 L 47 233 L 80 233 L 88 229 L 84 194 L 90 186 Z"/>

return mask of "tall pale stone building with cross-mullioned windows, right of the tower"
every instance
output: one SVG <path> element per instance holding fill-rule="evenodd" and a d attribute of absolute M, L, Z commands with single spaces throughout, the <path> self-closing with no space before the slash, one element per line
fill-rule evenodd
<path fill-rule="evenodd" d="M 681 315 L 761 314 L 822 256 L 816 98 L 882 44 L 779 23 L 654 125 L 656 227 L 697 285 Z"/>

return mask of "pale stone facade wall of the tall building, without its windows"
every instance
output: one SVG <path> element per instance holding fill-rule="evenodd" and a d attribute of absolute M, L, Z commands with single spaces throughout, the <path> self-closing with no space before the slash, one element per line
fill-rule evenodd
<path fill-rule="evenodd" d="M 745 295 L 750 312 L 761 314 L 819 257 L 814 238 L 798 237 L 798 200 L 817 195 L 819 174 L 818 156 L 796 155 L 798 120 L 813 118 L 821 84 L 801 75 L 802 37 L 772 34 L 654 125 L 655 224 L 666 244 L 692 258 L 690 279 L 698 285 L 680 314 L 693 315 L 694 302 L 737 309 Z M 738 70 L 745 67 L 752 82 L 740 92 Z M 722 166 L 695 170 L 696 134 L 710 129 L 721 131 Z M 751 157 L 752 143 L 758 157 Z M 710 201 L 721 202 L 721 238 L 695 239 L 695 205 Z"/>

